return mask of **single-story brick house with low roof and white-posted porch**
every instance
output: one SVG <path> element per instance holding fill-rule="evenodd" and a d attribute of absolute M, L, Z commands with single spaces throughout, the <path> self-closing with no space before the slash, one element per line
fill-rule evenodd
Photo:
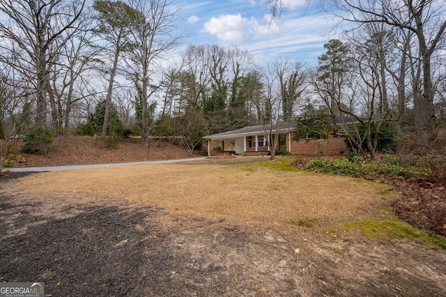
<path fill-rule="evenodd" d="M 295 155 L 310 155 L 315 154 L 321 156 L 343 154 L 347 150 L 344 138 L 330 137 L 315 145 L 314 139 L 301 139 L 300 141 L 293 141 L 293 132 L 296 129 L 296 122 L 281 122 L 277 127 L 272 125 L 272 135 L 269 129 L 265 131 L 262 125 L 244 127 L 232 131 L 227 131 L 219 134 L 204 136 L 208 140 L 208 155 L 218 156 L 222 154 L 269 154 L 270 147 L 268 147 L 267 137 L 279 137 L 276 154 L 288 152 Z M 222 150 L 213 150 L 213 144 L 221 143 Z"/>

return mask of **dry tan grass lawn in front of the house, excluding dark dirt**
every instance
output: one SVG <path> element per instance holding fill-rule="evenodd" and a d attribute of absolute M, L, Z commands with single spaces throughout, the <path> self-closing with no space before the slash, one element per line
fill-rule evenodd
<path fill-rule="evenodd" d="M 326 226 L 369 216 L 394 197 L 383 184 L 272 169 L 262 165 L 270 162 L 267 157 L 251 157 L 260 162 L 255 166 L 238 160 L 45 172 L 20 186 L 39 196 L 77 192 L 156 205 L 173 216 L 249 225 L 311 220 Z"/>

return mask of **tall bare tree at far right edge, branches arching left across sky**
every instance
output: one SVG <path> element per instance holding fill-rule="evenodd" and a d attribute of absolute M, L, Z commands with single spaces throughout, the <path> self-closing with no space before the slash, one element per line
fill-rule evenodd
<path fill-rule="evenodd" d="M 431 61 L 445 40 L 446 7 L 444 1 L 436 0 L 344 0 L 332 1 L 334 12 L 342 20 L 356 24 L 384 23 L 396 30 L 411 31 L 417 38 L 417 47 L 422 61 L 422 113 L 424 127 L 436 131 L 433 79 Z M 435 134 L 432 134 L 435 135 Z"/>

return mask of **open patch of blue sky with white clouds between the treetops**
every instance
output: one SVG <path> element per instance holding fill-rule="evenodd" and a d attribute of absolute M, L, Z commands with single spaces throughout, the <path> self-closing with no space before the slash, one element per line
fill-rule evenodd
<path fill-rule="evenodd" d="M 184 44 L 236 45 L 258 59 L 282 57 L 317 65 L 323 45 L 336 37 L 331 17 L 307 0 L 282 0 L 286 11 L 271 26 L 269 8 L 261 1 L 180 0 Z"/>

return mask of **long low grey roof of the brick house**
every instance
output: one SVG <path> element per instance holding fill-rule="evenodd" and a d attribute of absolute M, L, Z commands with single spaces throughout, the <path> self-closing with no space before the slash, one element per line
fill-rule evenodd
<path fill-rule="evenodd" d="M 272 125 L 266 125 L 265 127 L 266 131 L 263 129 L 264 128 L 263 125 L 249 126 L 232 131 L 204 136 L 203 138 L 216 141 L 229 141 L 229 140 L 233 141 L 235 138 L 240 138 L 243 136 L 261 135 L 265 134 L 265 132 L 266 134 L 269 134 L 270 130 L 272 130 L 272 134 L 283 134 L 290 131 L 294 131 L 295 125 L 296 125 L 295 121 L 279 122 L 278 125 L 276 123 Z M 270 129 L 271 126 L 272 129 Z"/>

